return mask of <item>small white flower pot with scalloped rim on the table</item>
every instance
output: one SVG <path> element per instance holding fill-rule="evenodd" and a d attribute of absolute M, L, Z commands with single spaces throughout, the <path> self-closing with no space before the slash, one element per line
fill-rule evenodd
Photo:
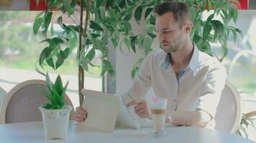
<path fill-rule="evenodd" d="M 40 106 L 46 139 L 65 139 L 68 135 L 69 115 L 72 107 L 65 105 L 63 109 L 45 109 Z"/>

